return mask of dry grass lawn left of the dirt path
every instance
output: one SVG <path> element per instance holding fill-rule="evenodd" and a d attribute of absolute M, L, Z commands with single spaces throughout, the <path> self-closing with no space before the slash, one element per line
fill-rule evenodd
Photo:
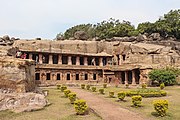
<path fill-rule="evenodd" d="M 70 104 L 64 93 L 55 88 L 48 88 L 47 99 L 51 105 L 42 110 L 33 112 L 13 113 L 5 110 L 0 112 L 0 120 L 100 120 L 101 118 L 92 112 L 88 115 L 76 115 L 74 106 Z"/>

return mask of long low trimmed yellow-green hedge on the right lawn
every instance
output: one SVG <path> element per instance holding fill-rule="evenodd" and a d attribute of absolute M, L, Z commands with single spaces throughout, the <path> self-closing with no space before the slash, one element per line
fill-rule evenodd
<path fill-rule="evenodd" d="M 126 91 L 126 96 L 134 96 L 134 95 L 141 95 L 142 97 L 162 97 L 166 96 L 166 91 L 159 90 L 159 89 L 138 89 L 138 90 L 131 90 Z"/>

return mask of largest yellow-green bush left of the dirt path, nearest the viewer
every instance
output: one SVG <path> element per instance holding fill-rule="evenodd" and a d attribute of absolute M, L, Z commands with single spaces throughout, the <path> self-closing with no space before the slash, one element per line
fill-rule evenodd
<path fill-rule="evenodd" d="M 74 108 L 78 115 L 84 115 L 88 110 L 88 106 L 86 105 L 85 100 L 76 100 L 74 102 Z"/>

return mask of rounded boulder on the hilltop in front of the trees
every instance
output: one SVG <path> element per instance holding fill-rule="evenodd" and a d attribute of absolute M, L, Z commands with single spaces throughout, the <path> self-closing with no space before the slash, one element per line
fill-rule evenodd
<path fill-rule="evenodd" d="M 78 40 L 87 40 L 89 37 L 84 31 L 77 31 L 74 33 L 74 38 Z"/>

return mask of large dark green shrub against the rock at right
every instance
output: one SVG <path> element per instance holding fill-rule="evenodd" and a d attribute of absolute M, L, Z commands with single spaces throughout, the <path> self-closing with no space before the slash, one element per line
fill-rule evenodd
<path fill-rule="evenodd" d="M 152 81 L 158 81 L 165 85 L 173 85 L 176 82 L 176 75 L 173 71 L 167 69 L 155 69 L 149 72 L 149 78 Z"/>

